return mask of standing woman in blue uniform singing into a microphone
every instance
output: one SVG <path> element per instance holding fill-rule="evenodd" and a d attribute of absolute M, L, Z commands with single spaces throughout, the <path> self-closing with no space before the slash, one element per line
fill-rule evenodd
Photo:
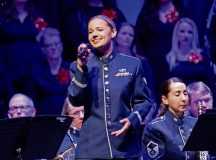
<path fill-rule="evenodd" d="M 152 105 L 150 93 L 141 60 L 115 51 L 116 33 L 110 18 L 92 17 L 88 39 L 94 52 L 89 57 L 91 49 L 81 44 L 83 55 L 70 67 L 69 100 L 85 109 L 77 159 L 138 159 L 142 155 L 138 129 Z"/>

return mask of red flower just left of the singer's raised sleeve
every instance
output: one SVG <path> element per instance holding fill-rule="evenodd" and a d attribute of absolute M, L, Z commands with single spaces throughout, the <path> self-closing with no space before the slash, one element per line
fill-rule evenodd
<path fill-rule="evenodd" d="M 69 70 L 60 68 L 58 74 L 56 75 L 56 79 L 60 84 L 68 84 L 70 82 Z"/>

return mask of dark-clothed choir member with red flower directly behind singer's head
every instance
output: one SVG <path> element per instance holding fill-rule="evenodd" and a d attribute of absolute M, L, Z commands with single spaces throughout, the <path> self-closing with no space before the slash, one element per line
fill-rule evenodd
<path fill-rule="evenodd" d="M 108 16 L 116 24 L 126 21 L 114 0 L 75 0 L 71 7 L 65 10 L 62 33 L 67 60 L 76 60 L 79 44 L 88 42 L 88 20 L 98 14 Z"/>

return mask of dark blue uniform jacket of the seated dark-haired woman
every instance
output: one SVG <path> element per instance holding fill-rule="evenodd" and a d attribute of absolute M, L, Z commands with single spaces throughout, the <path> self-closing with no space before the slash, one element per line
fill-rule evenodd
<path fill-rule="evenodd" d="M 182 149 L 196 120 L 189 116 L 179 119 L 166 111 L 164 116 L 147 124 L 143 133 L 145 159 L 194 160 L 195 152 L 184 152 Z"/>

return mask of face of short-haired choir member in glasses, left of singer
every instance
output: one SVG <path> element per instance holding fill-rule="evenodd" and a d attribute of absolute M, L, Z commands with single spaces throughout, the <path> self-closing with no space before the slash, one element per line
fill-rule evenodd
<path fill-rule="evenodd" d="M 63 46 L 59 36 L 44 36 L 42 51 L 48 59 L 59 59 L 62 56 Z"/>

